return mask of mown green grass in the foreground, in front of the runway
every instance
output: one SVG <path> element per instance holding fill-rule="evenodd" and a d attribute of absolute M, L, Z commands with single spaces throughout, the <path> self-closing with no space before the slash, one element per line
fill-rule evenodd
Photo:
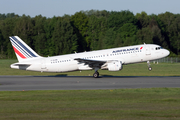
<path fill-rule="evenodd" d="M 180 88 L 0 91 L 0 119 L 180 119 Z"/>

